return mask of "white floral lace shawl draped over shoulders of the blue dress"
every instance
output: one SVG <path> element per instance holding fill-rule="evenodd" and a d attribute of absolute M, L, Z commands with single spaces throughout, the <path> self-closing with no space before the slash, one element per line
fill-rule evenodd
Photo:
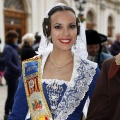
<path fill-rule="evenodd" d="M 42 72 L 48 55 L 43 56 Z M 67 89 L 58 104 L 54 120 L 66 120 L 80 105 L 96 73 L 97 64 L 74 55 L 74 68 Z"/>

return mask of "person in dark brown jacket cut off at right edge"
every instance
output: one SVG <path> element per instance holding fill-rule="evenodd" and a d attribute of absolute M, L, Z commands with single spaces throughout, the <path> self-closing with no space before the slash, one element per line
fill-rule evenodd
<path fill-rule="evenodd" d="M 120 54 L 103 62 L 86 120 L 120 119 Z"/>

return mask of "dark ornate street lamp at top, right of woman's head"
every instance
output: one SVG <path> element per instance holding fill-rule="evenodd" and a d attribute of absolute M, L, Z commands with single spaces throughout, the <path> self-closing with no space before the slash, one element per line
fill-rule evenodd
<path fill-rule="evenodd" d="M 85 21 L 84 9 L 87 1 L 86 0 L 74 0 L 74 1 L 75 1 L 77 10 L 79 10 L 78 18 L 80 18 L 81 22 L 83 22 Z"/>

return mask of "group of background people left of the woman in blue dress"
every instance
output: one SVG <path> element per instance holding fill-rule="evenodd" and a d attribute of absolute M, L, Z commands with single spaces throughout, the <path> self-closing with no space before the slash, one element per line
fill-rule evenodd
<path fill-rule="evenodd" d="M 37 36 L 40 35 L 37 34 Z M 33 48 L 36 45 L 34 34 L 26 33 L 20 44 L 18 44 L 18 38 L 19 35 L 16 31 L 8 31 L 3 52 L 0 53 L 0 86 L 3 86 L 2 79 L 4 76 L 8 87 L 4 120 L 8 119 L 12 110 L 14 95 L 22 72 L 22 61 L 36 55 L 36 48 Z"/>

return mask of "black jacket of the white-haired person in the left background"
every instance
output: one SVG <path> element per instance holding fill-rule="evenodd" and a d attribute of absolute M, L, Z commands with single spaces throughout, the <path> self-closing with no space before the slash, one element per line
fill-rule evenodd
<path fill-rule="evenodd" d="M 20 50 L 21 60 L 26 60 L 28 58 L 32 58 L 36 55 L 35 51 L 29 45 L 24 45 Z"/>

